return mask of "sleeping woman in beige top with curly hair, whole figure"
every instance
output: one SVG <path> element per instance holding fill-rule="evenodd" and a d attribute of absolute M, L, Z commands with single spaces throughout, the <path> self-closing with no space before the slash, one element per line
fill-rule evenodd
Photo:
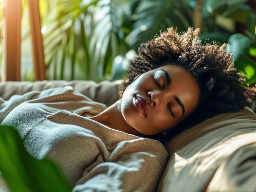
<path fill-rule="evenodd" d="M 73 191 L 154 191 L 167 160 L 162 143 L 256 99 L 227 44 L 202 45 L 198 33 L 169 28 L 142 43 L 108 108 L 54 88 L 2 101 L 0 122 L 17 129 L 31 155 L 53 159 Z"/>

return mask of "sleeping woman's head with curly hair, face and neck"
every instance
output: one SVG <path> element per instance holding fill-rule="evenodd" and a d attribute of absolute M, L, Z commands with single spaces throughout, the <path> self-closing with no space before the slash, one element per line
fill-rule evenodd
<path fill-rule="evenodd" d="M 88 118 L 164 142 L 216 114 L 250 106 L 256 87 L 234 68 L 227 44 L 204 46 L 198 33 L 169 28 L 141 44 L 119 87 L 120 100 Z"/>

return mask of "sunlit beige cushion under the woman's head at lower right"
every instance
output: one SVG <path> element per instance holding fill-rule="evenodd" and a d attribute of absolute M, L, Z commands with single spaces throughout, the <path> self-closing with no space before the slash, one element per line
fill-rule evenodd
<path fill-rule="evenodd" d="M 167 151 L 158 192 L 256 191 L 256 114 L 248 107 L 180 133 Z"/>

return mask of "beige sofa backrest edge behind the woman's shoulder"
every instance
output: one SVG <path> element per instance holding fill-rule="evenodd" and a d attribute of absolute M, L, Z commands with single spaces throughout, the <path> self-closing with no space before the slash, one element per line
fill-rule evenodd
<path fill-rule="evenodd" d="M 74 90 L 91 98 L 93 101 L 112 105 L 118 100 L 118 86 L 122 80 L 102 81 L 96 83 L 94 81 L 84 80 L 53 80 L 53 81 L 6 81 L 0 82 L 0 97 L 8 100 L 12 95 L 23 95 L 32 90 L 45 90 L 54 87 L 72 86 Z"/>

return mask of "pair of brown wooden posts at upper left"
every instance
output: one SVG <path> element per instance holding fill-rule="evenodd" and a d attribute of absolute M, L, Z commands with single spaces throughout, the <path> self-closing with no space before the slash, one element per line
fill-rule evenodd
<path fill-rule="evenodd" d="M 35 80 L 45 80 L 38 0 L 28 0 Z M 20 81 L 21 0 L 5 0 L 5 49 L 2 81 Z"/>

